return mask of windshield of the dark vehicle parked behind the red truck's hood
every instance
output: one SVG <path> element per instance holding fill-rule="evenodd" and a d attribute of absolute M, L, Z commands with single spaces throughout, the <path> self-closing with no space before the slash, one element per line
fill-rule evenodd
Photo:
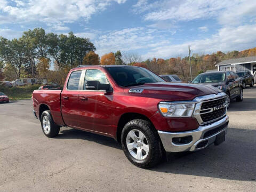
<path fill-rule="evenodd" d="M 198 75 L 192 83 L 219 83 L 225 81 L 225 73 L 209 73 Z"/>

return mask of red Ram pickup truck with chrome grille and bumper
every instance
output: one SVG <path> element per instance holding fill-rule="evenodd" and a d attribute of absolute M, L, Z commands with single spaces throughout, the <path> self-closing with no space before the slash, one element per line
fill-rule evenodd
<path fill-rule="evenodd" d="M 47 137 L 61 126 L 121 142 L 126 157 L 152 167 L 166 152 L 225 141 L 227 96 L 208 85 L 167 83 L 134 66 L 79 66 L 62 90 L 35 90 L 34 115 Z"/>

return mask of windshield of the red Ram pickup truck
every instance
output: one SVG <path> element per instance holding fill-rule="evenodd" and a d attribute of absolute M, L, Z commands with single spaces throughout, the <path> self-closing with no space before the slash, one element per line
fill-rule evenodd
<path fill-rule="evenodd" d="M 165 82 L 151 71 L 140 67 L 107 67 L 110 75 L 120 86 L 136 86 L 145 83 Z"/>

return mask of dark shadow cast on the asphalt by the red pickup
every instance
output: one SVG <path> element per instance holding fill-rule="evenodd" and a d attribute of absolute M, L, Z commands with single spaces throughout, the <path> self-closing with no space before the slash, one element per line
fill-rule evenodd
<path fill-rule="evenodd" d="M 83 139 L 122 150 L 121 146 L 114 139 L 102 135 L 75 129 L 62 130 L 61 133 L 56 139 Z M 255 138 L 256 130 L 229 128 L 226 141 L 221 143 L 221 145 L 212 145 L 195 153 L 169 153 L 167 154 L 168 158 L 166 161 L 150 170 L 163 173 L 194 175 L 195 181 L 196 177 L 255 181 Z M 126 157 L 124 156 L 124 158 Z"/>

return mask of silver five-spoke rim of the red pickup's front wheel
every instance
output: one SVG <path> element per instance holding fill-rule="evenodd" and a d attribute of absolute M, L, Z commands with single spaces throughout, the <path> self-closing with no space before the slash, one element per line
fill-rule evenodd
<path fill-rule="evenodd" d="M 133 129 L 126 136 L 126 147 L 130 154 L 137 160 L 143 160 L 148 156 L 148 140 L 141 131 Z"/>

